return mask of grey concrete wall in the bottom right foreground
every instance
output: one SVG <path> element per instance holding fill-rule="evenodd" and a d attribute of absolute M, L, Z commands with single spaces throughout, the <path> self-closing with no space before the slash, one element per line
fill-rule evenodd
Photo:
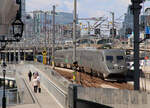
<path fill-rule="evenodd" d="M 77 87 L 77 99 L 112 108 L 149 108 L 150 106 L 148 93 L 128 90 Z"/>

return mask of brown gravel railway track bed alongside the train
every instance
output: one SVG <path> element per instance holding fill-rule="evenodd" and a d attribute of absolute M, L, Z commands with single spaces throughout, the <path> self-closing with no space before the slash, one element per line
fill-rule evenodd
<path fill-rule="evenodd" d="M 61 74 L 66 79 L 68 79 L 69 81 L 73 82 L 72 80 L 73 70 L 56 67 L 55 71 Z M 133 90 L 133 86 L 131 84 L 109 80 L 106 81 L 96 76 L 91 76 L 90 74 L 82 72 L 77 72 L 77 84 L 80 84 L 84 87 L 96 87 L 96 88 L 102 87 L 102 88 Z"/>

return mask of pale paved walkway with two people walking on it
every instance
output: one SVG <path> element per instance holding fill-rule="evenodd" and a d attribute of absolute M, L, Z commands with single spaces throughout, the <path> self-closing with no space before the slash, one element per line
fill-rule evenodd
<path fill-rule="evenodd" d="M 21 69 L 21 68 L 20 68 Z M 35 104 L 11 106 L 9 108 L 61 108 L 55 98 L 48 92 L 48 90 L 41 84 L 41 93 L 34 93 L 32 82 L 28 80 L 28 69 L 22 70 L 23 77 L 29 86 L 33 96 L 35 97 Z"/>

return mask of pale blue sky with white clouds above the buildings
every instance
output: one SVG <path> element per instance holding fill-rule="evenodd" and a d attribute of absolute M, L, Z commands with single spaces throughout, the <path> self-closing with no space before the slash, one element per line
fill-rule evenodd
<path fill-rule="evenodd" d="M 52 10 L 56 5 L 56 11 L 73 12 L 74 0 L 26 0 L 27 12 L 33 10 Z M 119 18 L 127 12 L 131 0 L 77 0 L 77 12 L 80 18 L 111 16 Z M 145 7 L 150 7 L 150 2 L 145 2 Z"/>

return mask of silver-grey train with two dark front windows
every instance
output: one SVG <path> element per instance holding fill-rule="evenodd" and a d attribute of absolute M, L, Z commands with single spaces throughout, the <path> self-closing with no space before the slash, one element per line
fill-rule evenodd
<path fill-rule="evenodd" d="M 88 73 L 103 78 L 126 75 L 127 66 L 125 51 L 121 49 L 77 49 L 78 66 Z M 55 65 L 73 67 L 73 50 L 58 50 L 55 52 Z"/>

